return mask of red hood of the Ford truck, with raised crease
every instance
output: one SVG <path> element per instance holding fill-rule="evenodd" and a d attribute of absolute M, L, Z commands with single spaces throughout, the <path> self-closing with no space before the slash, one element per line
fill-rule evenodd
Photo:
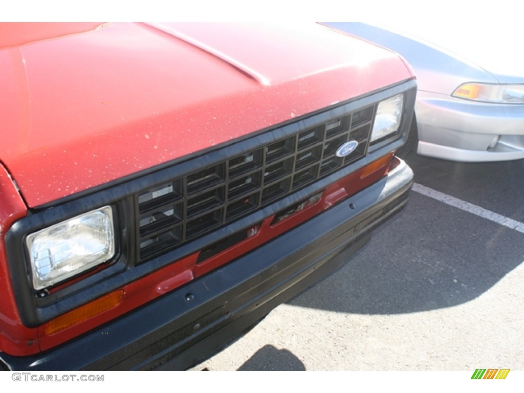
<path fill-rule="evenodd" d="M 320 25 L 6 29 L 0 161 L 30 207 L 412 77 Z"/>

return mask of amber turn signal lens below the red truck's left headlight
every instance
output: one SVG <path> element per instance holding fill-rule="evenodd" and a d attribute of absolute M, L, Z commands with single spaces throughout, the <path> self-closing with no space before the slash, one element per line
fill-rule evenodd
<path fill-rule="evenodd" d="M 69 328 L 70 326 L 76 325 L 80 322 L 88 320 L 95 315 L 99 315 L 104 311 L 111 310 L 115 308 L 118 304 L 122 303 L 124 298 L 124 290 L 118 290 L 111 292 L 93 300 L 88 304 L 84 304 L 82 307 L 60 315 L 58 318 L 55 318 L 48 323 L 44 329 L 46 335 L 54 334 L 60 332 L 64 329 Z"/>

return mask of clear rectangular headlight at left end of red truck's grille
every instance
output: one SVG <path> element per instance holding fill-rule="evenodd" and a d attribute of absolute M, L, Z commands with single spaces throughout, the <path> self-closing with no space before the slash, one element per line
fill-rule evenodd
<path fill-rule="evenodd" d="M 93 210 L 27 236 L 35 289 L 50 287 L 115 254 L 113 211 Z"/>

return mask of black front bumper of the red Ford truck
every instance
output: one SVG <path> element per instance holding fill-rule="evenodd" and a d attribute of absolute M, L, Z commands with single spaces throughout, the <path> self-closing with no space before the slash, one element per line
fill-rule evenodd
<path fill-rule="evenodd" d="M 413 172 L 388 176 L 231 264 L 53 350 L 0 353 L 12 370 L 186 369 L 343 264 L 407 202 Z M 350 208 L 350 204 L 352 208 Z M 103 334 L 104 333 L 104 334 Z"/>

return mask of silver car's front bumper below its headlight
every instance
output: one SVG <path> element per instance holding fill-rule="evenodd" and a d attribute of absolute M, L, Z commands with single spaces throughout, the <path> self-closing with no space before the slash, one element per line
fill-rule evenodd
<path fill-rule="evenodd" d="M 419 91 L 415 108 L 420 155 L 471 162 L 524 158 L 524 105 Z"/>

